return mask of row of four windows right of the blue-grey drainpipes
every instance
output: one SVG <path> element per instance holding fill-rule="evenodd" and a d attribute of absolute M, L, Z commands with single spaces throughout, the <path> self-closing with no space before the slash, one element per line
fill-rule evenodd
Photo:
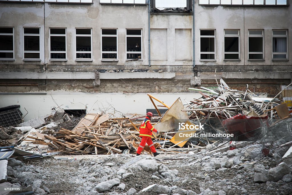
<path fill-rule="evenodd" d="M 224 30 L 224 59 L 240 60 L 240 30 Z M 272 59 L 287 60 L 288 30 L 273 30 Z M 215 30 L 200 30 L 200 59 L 215 60 Z M 248 59 L 264 60 L 264 30 L 248 30 Z"/>

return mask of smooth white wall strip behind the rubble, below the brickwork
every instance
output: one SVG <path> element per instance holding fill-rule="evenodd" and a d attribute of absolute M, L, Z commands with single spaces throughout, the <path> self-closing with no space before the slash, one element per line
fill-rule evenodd
<path fill-rule="evenodd" d="M 41 92 L 40 92 L 41 93 Z M 123 94 L 123 93 L 83 93 L 51 91 L 46 94 L 0 94 L 0 108 L 10 105 L 20 105 L 24 120 L 51 113 L 51 109 L 60 106 L 63 109 L 86 109 L 87 113 L 98 113 L 107 109 L 109 113 L 119 113 L 115 110 L 126 113 L 144 114 L 147 108 L 155 109 L 149 96 L 145 93 Z M 199 98 L 199 93 L 151 93 L 154 97 L 164 101 L 171 106 L 177 98 L 181 98 L 183 103 Z M 185 100 L 186 101 L 185 101 Z M 161 105 L 154 100 L 156 105 Z M 24 109 L 25 108 L 25 109 Z M 160 107 L 163 108 L 163 107 Z"/>

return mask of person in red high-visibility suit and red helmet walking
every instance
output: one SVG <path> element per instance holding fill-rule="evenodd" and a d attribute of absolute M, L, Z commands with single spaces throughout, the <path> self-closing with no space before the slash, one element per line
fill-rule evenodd
<path fill-rule="evenodd" d="M 148 112 L 146 115 L 147 115 L 146 118 L 144 119 L 144 121 L 142 122 L 142 124 L 139 128 L 140 129 L 139 137 L 142 137 L 142 141 L 137 149 L 136 156 L 139 156 L 141 154 L 145 144 L 147 143 L 150 147 L 151 152 L 153 153 L 153 155 L 155 157 L 160 153 L 156 152 L 155 147 L 153 145 L 153 142 L 151 140 L 151 136 L 152 136 L 152 131 L 157 133 L 157 129 L 155 129 L 151 125 L 151 117 L 153 117 L 153 113 Z"/>

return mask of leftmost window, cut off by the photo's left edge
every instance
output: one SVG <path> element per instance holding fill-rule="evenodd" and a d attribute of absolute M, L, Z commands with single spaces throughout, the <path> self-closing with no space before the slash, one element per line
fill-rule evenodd
<path fill-rule="evenodd" d="M 14 59 L 13 27 L 0 27 L 0 59 Z"/>

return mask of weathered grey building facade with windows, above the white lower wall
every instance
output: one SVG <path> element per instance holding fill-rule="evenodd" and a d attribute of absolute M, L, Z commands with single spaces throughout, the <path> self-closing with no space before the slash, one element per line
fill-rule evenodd
<path fill-rule="evenodd" d="M 291 82 L 291 0 L 161 2 L 1 0 L 2 99 L 183 93 L 216 85 L 215 75 L 274 96 Z"/>

